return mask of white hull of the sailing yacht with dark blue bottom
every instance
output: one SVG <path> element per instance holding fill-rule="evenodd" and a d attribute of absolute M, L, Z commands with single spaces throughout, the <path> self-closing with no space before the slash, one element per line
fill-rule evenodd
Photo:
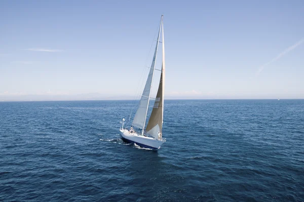
<path fill-rule="evenodd" d="M 120 129 L 121 135 L 124 139 L 130 142 L 134 142 L 139 146 L 150 148 L 150 149 L 159 149 L 164 142 L 165 139 L 157 140 L 151 137 L 146 137 L 142 135 L 138 135 L 136 133 L 130 133 L 126 129 Z"/>

